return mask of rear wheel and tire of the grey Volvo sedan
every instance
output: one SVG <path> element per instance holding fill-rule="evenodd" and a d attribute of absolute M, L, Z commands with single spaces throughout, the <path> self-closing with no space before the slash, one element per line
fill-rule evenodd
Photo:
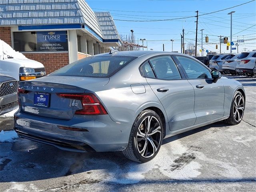
<path fill-rule="evenodd" d="M 160 150 L 162 140 L 163 126 L 161 118 L 152 110 L 144 110 L 134 121 L 128 146 L 123 150 L 123 154 L 132 161 L 148 162 Z"/>

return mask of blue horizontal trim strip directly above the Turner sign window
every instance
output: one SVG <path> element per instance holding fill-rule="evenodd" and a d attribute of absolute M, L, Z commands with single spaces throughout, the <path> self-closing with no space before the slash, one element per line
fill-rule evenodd
<path fill-rule="evenodd" d="M 63 25 L 23 25 L 18 26 L 19 31 L 22 30 L 43 30 L 43 29 L 79 29 L 81 24 L 63 24 Z"/>

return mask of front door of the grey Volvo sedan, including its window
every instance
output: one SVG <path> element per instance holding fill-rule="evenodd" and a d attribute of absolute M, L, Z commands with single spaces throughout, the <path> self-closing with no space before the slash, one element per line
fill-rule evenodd
<path fill-rule="evenodd" d="M 186 56 L 175 56 L 195 92 L 195 124 L 224 116 L 224 86 L 221 80 L 213 82 L 211 71 Z"/>

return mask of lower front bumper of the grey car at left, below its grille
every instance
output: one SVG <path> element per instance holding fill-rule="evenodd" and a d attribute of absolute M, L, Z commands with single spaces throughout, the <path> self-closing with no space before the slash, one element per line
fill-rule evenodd
<path fill-rule="evenodd" d="M 18 106 L 17 93 L 0 97 L 0 115 L 14 110 Z"/>

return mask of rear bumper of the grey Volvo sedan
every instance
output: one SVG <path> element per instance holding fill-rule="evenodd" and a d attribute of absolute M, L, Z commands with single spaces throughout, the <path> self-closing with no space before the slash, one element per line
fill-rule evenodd
<path fill-rule="evenodd" d="M 132 127 L 116 123 L 108 115 L 61 120 L 18 110 L 14 116 L 14 130 L 20 137 L 76 152 L 124 150 Z"/>

